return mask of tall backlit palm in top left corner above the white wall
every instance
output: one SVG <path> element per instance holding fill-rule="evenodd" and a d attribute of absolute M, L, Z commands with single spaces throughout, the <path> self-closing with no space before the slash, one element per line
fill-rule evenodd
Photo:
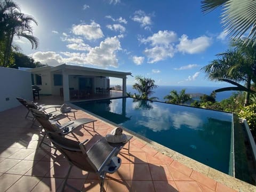
<path fill-rule="evenodd" d="M 0 2 L 0 41 L 4 46 L 1 46 L 3 52 L 4 67 L 9 66 L 10 55 L 12 52 L 13 37 L 18 36 L 28 39 L 31 43 L 32 49 L 38 46 L 38 39 L 33 36 L 33 28 L 31 22 L 37 25 L 36 20 L 19 10 L 19 6 L 11 0 L 4 0 Z"/>

